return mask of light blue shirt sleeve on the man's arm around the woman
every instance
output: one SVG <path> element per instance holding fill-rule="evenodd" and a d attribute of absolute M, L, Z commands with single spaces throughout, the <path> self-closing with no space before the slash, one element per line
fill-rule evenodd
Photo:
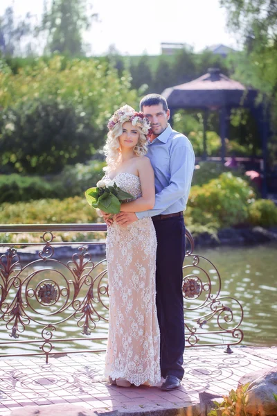
<path fill-rule="evenodd" d="M 193 148 L 176 146 L 170 156 L 170 182 L 168 187 L 156 194 L 153 209 L 136 212 L 136 216 L 141 219 L 159 215 L 180 198 L 185 198 L 187 202 L 194 167 L 195 154 Z"/>

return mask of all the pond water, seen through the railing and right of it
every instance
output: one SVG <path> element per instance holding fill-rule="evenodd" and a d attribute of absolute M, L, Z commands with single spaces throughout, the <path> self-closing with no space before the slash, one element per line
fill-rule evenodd
<path fill-rule="evenodd" d="M 277 343 L 277 285 L 276 285 L 276 271 L 277 271 L 277 243 L 269 243 L 266 245 L 256 245 L 253 247 L 237 247 L 237 248 L 212 248 L 212 249 L 197 249 L 196 254 L 199 254 L 213 263 L 215 268 L 221 276 L 221 291 L 220 295 L 223 297 L 233 297 L 242 304 L 244 310 L 244 320 L 240 326 L 240 329 L 244 331 L 244 339 L 242 345 L 256 345 L 256 346 L 271 346 Z M 101 259 L 95 259 L 96 263 Z M 190 259 L 191 263 L 192 259 Z M 64 261 L 66 264 L 66 261 Z M 185 261 L 185 265 L 188 263 L 188 259 Z M 46 266 L 46 270 L 39 271 L 43 266 Z M 192 267 L 190 272 L 195 273 L 197 276 L 197 270 Z M 208 270 L 212 275 L 215 270 L 210 267 Z M 99 272 L 105 270 L 105 263 L 100 263 L 95 270 L 91 273 L 92 276 L 98 275 Z M 39 271 L 39 273 L 37 273 Z M 36 274 L 37 273 L 37 274 Z M 43 264 L 43 261 L 39 260 L 33 262 L 32 265 L 26 266 L 26 269 L 21 273 L 22 277 L 32 275 L 30 286 L 26 286 L 25 293 L 28 293 L 28 301 L 31 308 L 28 308 L 28 316 L 32 322 L 28 325 L 25 331 L 19 334 L 19 338 L 15 340 L 13 345 L 1 345 L 2 354 L 24 354 L 27 352 L 39 352 L 38 344 L 19 343 L 18 341 L 24 340 L 41 340 L 42 328 L 48 323 L 57 322 L 55 312 L 62 307 L 63 302 L 66 299 L 67 293 L 72 293 L 73 285 L 66 286 L 66 279 L 70 280 L 73 277 L 72 270 L 66 268 L 57 261 L 47 261 Z M 22 279 L 21 277 L 21 279 Z M 35 299 L 34 291 L 36 285 L 42 279 L 53 279 L 57 281 L 60 286 L 64 287 L 63 299 L 56 305 L 48 306 L 38 304 Z M 219 279 L 217 279 L 217 284 Z M 102 284 L 107 283 L 107 275 L 102 279 Z M 214 283 L 216 285 L 216 283 Z M 67 287 L 67 289 L 66 289 Z M 85 286 L 84 286 L 85 289 Z M 83 291 L 85 293 L 85 290 Z M 82 295 L 82 294 L 81 294 Z M 71 295 L 69 295 L 70 300 Z M 10 296 L 12 300 L 12 293 Z M 98 311 L 102 317 L 108 317 L 107 312 L 107 296 L 102 296 L 103 304 L 98 305 Z M 197 302 L 200 302 L 197 300 Z M 186 303 L 186 306 L 191 305 L 191 301 Z M 201 303 L 201 302 L 200 302 Z M 228 302 L 227 302 L 228 306 Z M 230 306 L 233 306 L 234 315 L 240 310 L 235 310 L 237 305 L 235 302 L 231 302 Z M 32 309 L 33 308 L 33 309 Z M 238 307 L 237 307 L 238 309 Z M 46 315 L 39 315 L 38 313 L 44 313 Z M 82 329 L 76 324 L 75 318 L 70 318 L 73 315 L 74 309 L 71 307 L 62 311 L 59 316 L 65 319 L 66 322 L 56 325 L 56 329 L 53 333 L 53 338 L 60 338 L 60 342 L 55 344 L 55 352 L 63 352 L 66 350 L 84 350 L 84 349 L 99 349 L 104 348 L 106 345 L 105 340 L 89 340 L 87 336 L 82 335 Z M 195 319 L 197 313 L 191 309 L 186 311 L 186 318 Z M 70 318 L 68 320 L 68 318 Z M 82 318 L 81 315 L 77 317 Z M 96 317 L 94 317 L 96 318 Z M 60 318 L 59 318 L 60 319 Z M 96 318 L 97 320 L 97 318 Z M 84 322 L 84 319 L 80 320 L 80 324 Z M 11 326 L 10 326 L 11 327 Z M 213 327 L 207 325 L 209 331 L 213 331 Z M 91 332 L 93 338 L 106 337 L 107 336 L 107 320 L 100 319 L 96 324 L 96 329 Z M 3 321 L 0 326 L 1 341 L 11 341 L 10 330 L 7 331 Z M 62 338 L 80 338 L 74 342 L 62 341 Z M 223 336 L 218 334 L 209 334 L 204 337 L 206 343 L 223 343 Z"/>

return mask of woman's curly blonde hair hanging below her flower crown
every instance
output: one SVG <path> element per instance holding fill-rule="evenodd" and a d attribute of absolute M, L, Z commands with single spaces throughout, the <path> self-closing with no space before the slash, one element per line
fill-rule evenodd
<path fill-rule="evenodd" d="M 120 153 L 120 144 L 119 144 L 119 137 L 123 134 L 123 124 L 118 121 L 111 130 L 109 130 L 107 134 L 107 141 L 103 148 L 105 156 L 106 156 L 106 163 L 107 166 L 103 169 L 104 171 L 113 171 L 118 166 L 118 163 L 121 159 Z M 148 152 L 147 149 L 147 139 L 141 127 L 136 125 L 136 128 L 139 131 L 139 140 L 136 146 L 134 146 L 134 153 L 137 156 L 144 156 Z"/>

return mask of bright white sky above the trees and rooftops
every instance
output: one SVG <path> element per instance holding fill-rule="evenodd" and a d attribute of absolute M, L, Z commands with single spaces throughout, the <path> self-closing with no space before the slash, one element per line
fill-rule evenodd
<path fill-rule="evenodd" d="M 238 49 L 238 40 L 227 30 L 226 10 L 220 8 L 220 0 L 92 0 L 92 3 L 98 21 L 93 21 L 84 36 L 91 44 L 91 55 L 104 55 L 111 44 L 123 55 L 159 55 L 161 42 L 185 43 L 196 52 L 213 44 Z M 42 13 L 43 0 L 0 0 L 0 15 L 11 4 L 21 17 L 26 12 Z"/>

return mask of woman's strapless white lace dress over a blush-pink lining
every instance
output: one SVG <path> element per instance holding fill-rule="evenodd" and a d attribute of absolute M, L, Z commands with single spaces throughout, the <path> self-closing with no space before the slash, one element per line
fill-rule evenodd
<path fill-rule="evenodd" d="M 134 198 L 141 196 L 139 177 L 118 173 L 114 182 Z M 151 218 L 125 227 L 114 222 L 108 227 L 109 336 L 105 376 L 124 377 L 134 385 L 161 381 L 156 251 Z"/>

